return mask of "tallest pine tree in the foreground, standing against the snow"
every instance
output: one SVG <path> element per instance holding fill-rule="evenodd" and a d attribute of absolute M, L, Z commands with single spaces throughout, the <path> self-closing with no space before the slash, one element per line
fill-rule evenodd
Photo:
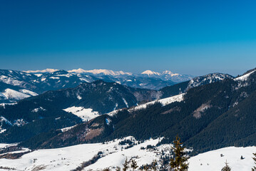
<path fill-rule="evenodd" d="M 175 158 L 170 159 L 170 167 L 173 168 L 173 171 L 187 171 L 189 157 L 185 155 L 185 147 L 183 147 L 183 142 L 180 142 L 178 135 L 173 144 L 174 147 L 172 148 Z"/>

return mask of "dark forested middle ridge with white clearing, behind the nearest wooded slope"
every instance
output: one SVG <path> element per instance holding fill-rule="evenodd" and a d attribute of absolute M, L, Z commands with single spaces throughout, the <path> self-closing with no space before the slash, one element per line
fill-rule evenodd
<path fill-rule="evenodd" d="M 40 75 L 36 77 L 47 81 L 48 84 L 46 85 L 49 85 L 51 82 L 48 82 L 48 79 L 50 81 L 58 80 L 52 79 L 51 77 L 53 76 L 63 76 L 65 78 L 73 77 L 73 79 L 78 78 L 76 74 L 73 75 L 73 73 L 66 71 L 55 71 L 53 73 L 47 73 L 46 75 L 41 75 L 40 73 Z M 88 79 L 88 77 L 86 78 Z M 33 140 L 33 142 L 37 139 L 41 140 L 41 136 L 48 138 L 49 135 L 53 136 L 59 133 L 58 131 L 52 132 L 52 130 L 59 130 L 80 123 L 80 127 L 83 128 L 83 126 L 85 126 L 87 130 L 91 125 L 98 125 L 96 128 L 103 129 L 103 135 L 105 135 L 105 131 L 107 132 L 106 135 L 108 135 L 111 133 L 113 125 L 112 123 L 109 125 L 106 124 L 106 120 L 108 120 L 109 117 L 103 115 L 105 113 L 111 115 L 110 113 L 119 113 L 119 110 L 125 110 L 126 108 L 130 111 L 130 108 L 140 106 L 140 104 L 144 106 L 147 106 L 148 102 L 153 104 L 153 100 L 156 100 L 155 103 L 158 103 L 159 99 L 179 95 L 187 92 L 190 88 L 202 86 L 207 83 L 214 83 L 215 81 L 222 81 L 225 78 L 232 78 L 232 76 L 214 73 L 193 78 L 191 81 L 178 83 L 160 90 L 130 88 L 129 86 L 123 86 L 119 83 L 110 83 L 101 80 L 93 81 L 92 83 L 81 83 L 75 88 L 49 90 L 40 95 L 19 100 L 18 103 L 13 105 L 3 105 L 3 107 L 0 108 L 1 142 L 23 142 L 24 145 L 28 145 L 31 144 L 31 140 Z M 36 81 L 32 81 L 32 83 L 36 83 Z M 64 81 L 63 83 L 66 82 Z M 52 84 L 54 85 L 54 82 Z M 167 105 L 170 101 L 173 102 L 173 99 L 175 98 L 167 98 L 166 100 L 160 100 L 160 102 Z M 125 119 L 127 115 L 123 115 L 122 117 Z M 98 122 L 98 120 L 100 120 L 101 123 L 94 124 Z M 109 118 L 109 120 L 113 120 L 113 118 Z M 86 124 L 83 124 L 83 122 Z M 88 126 L 87 123 L 91 125 Z M 34 128 L 35 126 L 36 128 Z M 101 128 L 101 126 L 103 128 Z M 81 129 L 81 131 L 81 133 L 83 133 L 83 129 Z M 78 133 L 75 135 L 77 134 Z M 39 138 L 37 138 L 38 136 Z M 40 143 L 36 142 L 35 144 L 36 147 L 38 147 Z M 67 144 L 63 143 L 63 145 Z"/>

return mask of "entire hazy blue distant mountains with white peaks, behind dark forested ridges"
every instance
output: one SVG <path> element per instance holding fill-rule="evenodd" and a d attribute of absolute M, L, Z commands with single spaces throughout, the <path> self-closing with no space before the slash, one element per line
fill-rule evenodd
<path fill-rule="evenodd" d="M 170 72 L 169 72 L 170 73 Z M 167 78 L 167 76 L 169 76 Z M 178 76 L 180 81 L 190 79 L 192 76 L 180 74 L 163 76 L 152 74 L 132 74 L 123 71 L 92 70 L 83 69 L 63 71 L 56 69 L 45 69 L 42 71 L 11 71 L 0 70 L 0 103 L 16 103 L 23 98 L 38 95 L 47 90 L 58 90 L 61 88 L 74 88 L 81 83 L 92 83 L 103 80 L 107 82 L 121 83 L 133 88 L 148 88 L 159 90 L 165 86 L 174 85 L 172 76 Z M 164 79 L 162 79 L 165 77 Z M 174 80 L 176 78 L 173 78 Z M 177 80 L 177 79 L 176 79 Z"/>

